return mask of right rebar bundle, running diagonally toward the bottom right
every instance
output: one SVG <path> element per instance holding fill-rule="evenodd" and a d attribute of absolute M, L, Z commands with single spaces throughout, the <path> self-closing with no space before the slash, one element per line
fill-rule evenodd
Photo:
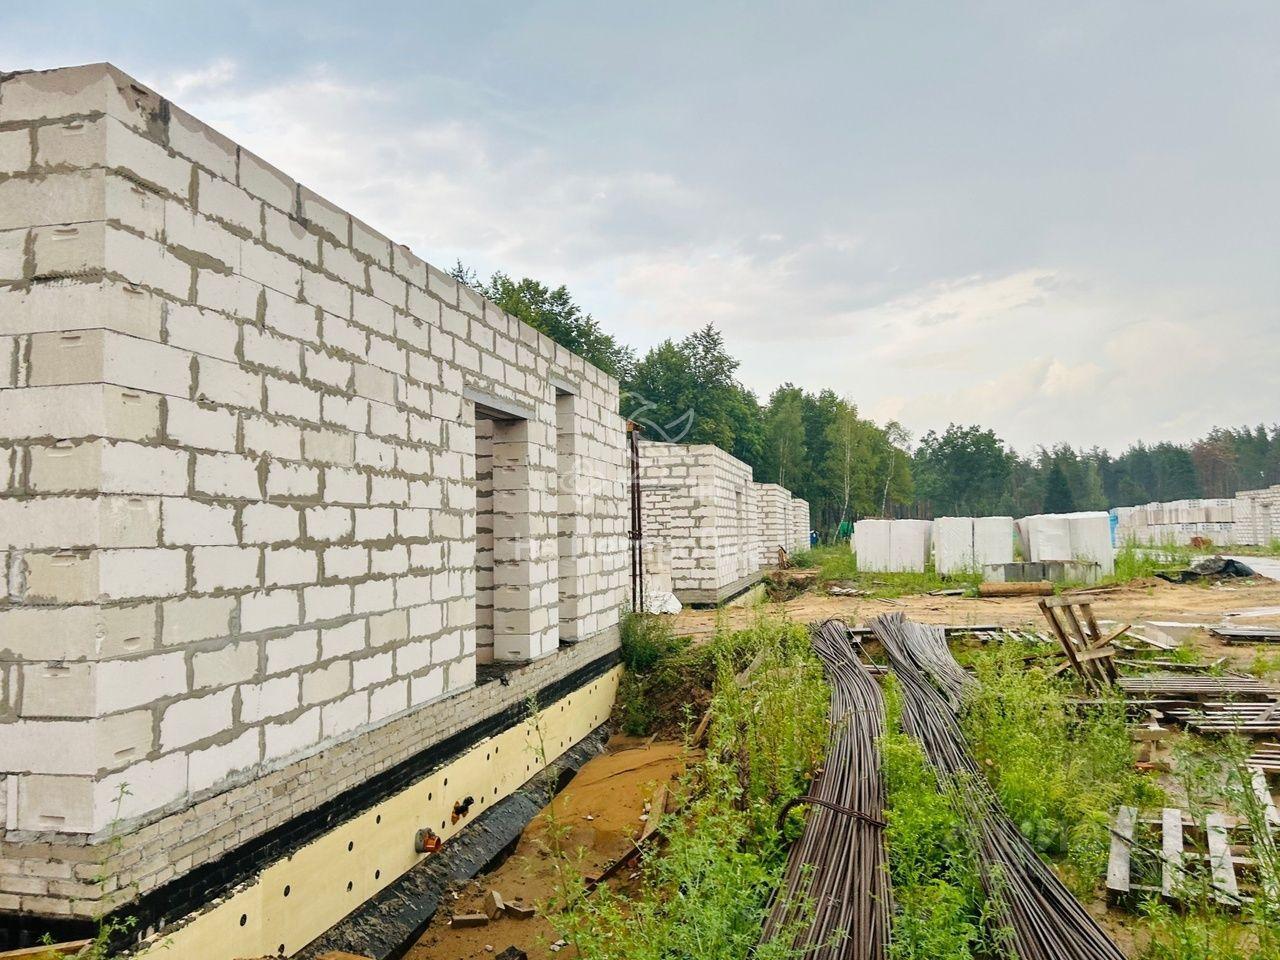
<path fill-rule="evenodd" d="M 940 783 L 960 803 L 1005 952 L 1019 960 L 1124 960 L 1009 819 L 969 754 L 956 709 L 975 681 L 951 657 L 942 631 L 901 613 L 870 626 L 899 681 L 904 732 L 919 741 Z"/>

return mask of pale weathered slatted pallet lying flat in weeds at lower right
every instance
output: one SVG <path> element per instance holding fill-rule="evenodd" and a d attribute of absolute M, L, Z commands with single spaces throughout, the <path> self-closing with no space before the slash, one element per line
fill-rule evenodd
<path fill-rule="evenodd" d="M 1254 786 L 1257 790 L 1257 786 Z M 1275 804 L 1262 785 L 1271 809 Z M 1261 797 L 1260 797 L 1261 799 Z M 1228 908 L 1239 908 L 1252 900 L 1249 883 L 1257 861 L 1251 856 L 1258 842 L 1275 844 L 1276 820 L 1270 819 L 1271 832 L 1254 837 L 1247 823 L 1221 813 L 1211 813 L 1202 824 L 1174 806 L 1166 806 L 1158 817 L 1142 817 L 1134 806 L 1121 806 L 1111 823 L 1111 855 L 1107 861 L 1107 896 L 1112 901 L 1130 902 L 1143 896 L 1160 895 L 1176 901 L 1192 876 L 1211 883 L 1215 900 Z M 1156 835 L 1157 842 L 1146 836 Z M 1236 852 L 1242 850 L 1244 852 Z M 1134 852 L 1158 861 L 1158 883 L 1155 879 L 1134 877 Z M 1148 873 L 1151 864 L 1147 864 Z M 1245 879 L 1242 882 L 1242 870 Z"/>

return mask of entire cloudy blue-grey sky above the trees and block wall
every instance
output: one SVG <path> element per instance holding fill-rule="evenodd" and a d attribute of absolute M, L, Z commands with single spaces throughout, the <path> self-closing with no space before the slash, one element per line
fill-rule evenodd
<path fill-rule="evenodd" d="M 419 255 L 762 399 L 1115 451 L 1280 420 L 1280 4 L 8 3 Z"/>

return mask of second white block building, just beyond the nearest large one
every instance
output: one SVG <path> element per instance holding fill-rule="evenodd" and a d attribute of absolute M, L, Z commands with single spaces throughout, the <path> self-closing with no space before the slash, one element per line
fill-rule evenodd
<path fill-rule="evenodd" d="M 781 489 L 781 488 L 780 488 Z M 716 604 L 760 579 L 751 467 L 710 444 L 640 442 L 646 552 L 684 604 Z"/>

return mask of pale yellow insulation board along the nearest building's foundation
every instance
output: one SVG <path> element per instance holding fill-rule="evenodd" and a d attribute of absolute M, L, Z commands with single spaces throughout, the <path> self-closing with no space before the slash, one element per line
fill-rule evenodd
<path fill-rule="evenodd" d="M 538 714 L 476 744 L 399 794 L 335 827 L 183 925 L 161 931 L 136 954 L 146 960 L 288 957 L 429 854 L 413 836 L 430 827 L 448 844 L 480 813 L 603 723 L 621 667 Z M 365 736 L 378 736 L 378 731 Z M 474 797 L 452 823 L 453 805 Z M 230 856 L 236 852 L 232 851 Z"/>

